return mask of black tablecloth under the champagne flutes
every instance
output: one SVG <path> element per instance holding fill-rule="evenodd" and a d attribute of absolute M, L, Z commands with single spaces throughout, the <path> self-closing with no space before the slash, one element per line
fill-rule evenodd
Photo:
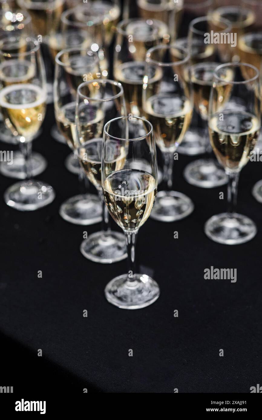
<path fill-rule="evenodd" d="M 257 223 L 258 234 L 249 243 L 225 246 L 210 241 L 203 225 L 225 210 L 226 187 L 187 184 L 182 171 L 194 157 L 179 155 L 174 186 L 193 199 L 195 210 L 174 223 L 149 218 L 140 229 L 138 261 L 161 294 L 147 308 L 121 310 L 106 301 L 103 289 L 125 272 L 126 261 L 86 260 L 79 252 L 83 231 L 91 234 L 99 225 L 76 226 L 58 215 L 61 203 L 79 187 L 77 176 L 64 167 L 69 148 L 50 136 L 53 122 L 49 106 L 33 148 L 48 160 L 38 179 L 53 186 L 55 201 L 23 213 L 0 199 L 1 358 L 9 385 L 27 381 L 32 388 L 42 378 L 50 386 L 88 391 L 250 392 L 261 382 L 262 370 L 262 205 L 251 195 L 262 178 L 262 163 L 243 168 L 238 199 L 238 211 Z M 0 149 L 13 147 L 1 143 Z M 13 182 L 1 176 L 1 197 Z M 204 269 L 211 266 L 236 268 L 236 283 L 205 280 Z"/>

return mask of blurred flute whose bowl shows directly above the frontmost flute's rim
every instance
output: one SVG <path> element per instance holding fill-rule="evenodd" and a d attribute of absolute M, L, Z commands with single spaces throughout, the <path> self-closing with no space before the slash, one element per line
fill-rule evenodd
<path fill-rule="evenodd" d="M 123 85 L 127 114 L 143 116 L 145 54 L 161 42 L 169 42 L 168 27 L 161 21 L 127 19 L 117 25 L 114 79 Z"/>

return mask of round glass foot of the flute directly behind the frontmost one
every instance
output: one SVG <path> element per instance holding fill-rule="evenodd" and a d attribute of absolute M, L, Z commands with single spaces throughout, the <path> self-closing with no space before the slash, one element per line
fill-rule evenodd
<path fill-rule="evenodd" d="M 88 260 L 111 264 L 127 258 L 124 235 L 119 232 L 95 232 L 80 245 L 82 255 Z"/>

